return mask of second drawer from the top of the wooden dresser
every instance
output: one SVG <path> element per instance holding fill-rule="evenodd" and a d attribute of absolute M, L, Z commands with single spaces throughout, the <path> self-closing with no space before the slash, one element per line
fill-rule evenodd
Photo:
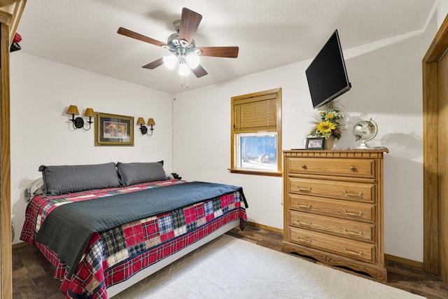
<path fill-rule="evenodd" d="M 374 202 L 374 183 L 288 178 L 289 193 Z"/>

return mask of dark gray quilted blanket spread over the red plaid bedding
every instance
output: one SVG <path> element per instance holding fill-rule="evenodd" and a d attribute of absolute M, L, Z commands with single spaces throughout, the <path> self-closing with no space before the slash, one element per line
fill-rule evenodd
<path fill-rule="evenodd" d="M 36 241 L 48 246 L 69 267 L 69 277 L 94 232 L 116 228 L 190 204 L 239 191 L 239 186 L 190 182 L 64 204 L 45 218 Z"/>

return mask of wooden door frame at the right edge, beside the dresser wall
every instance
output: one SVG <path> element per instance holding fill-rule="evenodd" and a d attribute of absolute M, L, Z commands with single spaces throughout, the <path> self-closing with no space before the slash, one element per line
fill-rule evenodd
<path fill-rule="evenodd" d="M 439 274 L 437 62 L 448 48 L 448 15 L 423 57 L 423 270 Z"/>

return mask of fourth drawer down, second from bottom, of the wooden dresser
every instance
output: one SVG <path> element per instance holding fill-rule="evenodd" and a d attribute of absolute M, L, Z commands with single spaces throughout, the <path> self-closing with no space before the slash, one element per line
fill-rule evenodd
<path fill-rule="evenodd" d="M 374 228 L 372 223 L 349 221 L 300 211 L 288 211 L 289 225 L 310 230 L 332 232 L 339 237 L 349 237 L 360 241 L 373 242 Z"/>

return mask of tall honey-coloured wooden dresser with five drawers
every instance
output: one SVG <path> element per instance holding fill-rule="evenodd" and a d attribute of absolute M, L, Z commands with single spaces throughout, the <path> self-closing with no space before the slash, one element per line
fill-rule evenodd
<path fill-rule="evenodd" d="M 386 152 L 283 151 L 282 250 L 387 281 L 383 236 Z"/>

